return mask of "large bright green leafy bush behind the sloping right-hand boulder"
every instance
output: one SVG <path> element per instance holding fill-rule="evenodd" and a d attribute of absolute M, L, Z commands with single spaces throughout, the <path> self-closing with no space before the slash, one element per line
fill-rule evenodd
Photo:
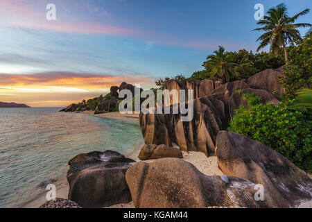
<path fill-rule="evenodd" d="M 279 105 L 261 103 L 254 94 L 244 94 L 249 109 L 236 110 L 227 130 L 250 137 L 281 153 L 304 171 L 312 172 L 312 116 L 291 108 L 293 101 Z"/>

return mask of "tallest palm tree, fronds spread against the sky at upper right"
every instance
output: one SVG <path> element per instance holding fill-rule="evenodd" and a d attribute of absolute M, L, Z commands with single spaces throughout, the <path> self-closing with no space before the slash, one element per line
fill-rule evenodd
<path fill-rule="evenodd" d="M 270 53 L 279 55 L 281 49 L 284 51 L 285 60 L 288 60 L 288 54 L 286 45 L 294 40 L 301 40 L 300 32 L 296 28 L 299 27 L 311 27 L 309 23 L 293 24 L 295 20 L 306 15 L 310 11 L 309 8 L 303 10 L 293 17 L 288 17 L 288 10 L 284 3 L 279 4 L 275 8 L 270 8 L 267 12 L 268 15 L 264 16 L 257 24 L 262 25 L 261 28 L 256 28 L 253 31 L 265 31 L 261 35 L 257 42 L 260 41 L 260 45 L 257 49 L 263 49 L 270 44 Z"/>

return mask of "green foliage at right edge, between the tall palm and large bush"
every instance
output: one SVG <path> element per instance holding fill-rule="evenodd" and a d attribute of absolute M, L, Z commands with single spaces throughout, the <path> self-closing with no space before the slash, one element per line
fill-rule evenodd
<path fill-rule="evenodd" d="M 297 46 L 290 46 L 289 60 L 283 69 L 284 78 L 281 85 L 286 89 L 284 100 L 294 99 L 298 89 L 310 88 L 312 85 L 312 35 L 306 35 L 298 41 Z"/>

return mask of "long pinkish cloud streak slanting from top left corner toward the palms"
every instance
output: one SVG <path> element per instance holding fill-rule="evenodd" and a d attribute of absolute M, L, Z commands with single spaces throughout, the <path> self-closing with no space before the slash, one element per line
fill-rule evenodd
<path fill-rule="evenodd" d="M 73 3 L 75 3 L 73 1 Z M 116 35 L 132 37 L 146 42 L 153 41 L 155 44 L 165 46 L 177 46 L 191 49 L 217 49 L 218 45 L 225 46 L 228 50 L 235 50 L 244 47 L 243 42 L 231 42 L 222 40 L 186 40 L 183 37 L 175 37 L 167 33 L 157 33 L 155 31 L 141 31 L 110 24 L 98 24 L 95 22 L 75 22 L 68 20 L 47 21 L 46 9 L 36 8 L 32 1 L 22 0 L 1 0 L 0 2 L 0 26 L 13 26 L 21 28 L 40 29 L 46 31 L 58 31 L 62 33 L 83 33 L 88 35 Z M 82 10 L 82 9 L 81 9 Z M 2 19 L 1 19 L 2 18 Z"/>

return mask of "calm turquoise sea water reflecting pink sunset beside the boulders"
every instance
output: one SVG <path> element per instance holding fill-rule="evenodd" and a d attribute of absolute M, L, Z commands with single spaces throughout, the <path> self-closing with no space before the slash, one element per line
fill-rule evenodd
<path fill-rule="evenodd" d="M 79 153 L 107 149 L 129 155 L 143 144 L 139 125 L 58 108 L 0 108 L 0 207 L 21 207 L 64 180 Z"/>

